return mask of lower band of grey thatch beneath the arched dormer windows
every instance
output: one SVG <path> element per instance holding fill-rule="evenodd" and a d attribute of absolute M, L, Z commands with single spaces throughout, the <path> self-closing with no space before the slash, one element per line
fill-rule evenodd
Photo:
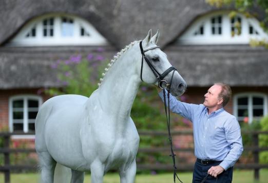
<path fill-rule="evenodd" d="M 99 53 L 94 47 L 35 47 L 0 49 L 0 88 L 59 86 L 58 59 L 71 55 L 104 55 L 111 59 L 112 47 Z M 268 51 L 249 46 L 169 46 L 164 50 L 188 86 L 224 82 L 231 86 L 268 86 Z"/>

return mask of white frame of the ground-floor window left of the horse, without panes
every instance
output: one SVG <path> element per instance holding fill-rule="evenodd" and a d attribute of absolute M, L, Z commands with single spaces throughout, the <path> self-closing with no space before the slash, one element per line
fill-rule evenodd
<path fill-rule="evenodd" d="M 38 95 L 15 95 L 9 98 L 9 132 L 13 132 L 13 101 L 23 100 L 23 132 L 27 133 L 28 129 L 28 100 L 34 99 L 38 101 L 40 109 L 43 99 Z M 35 135 L 13 135 L 12 138 L 34 138 Z"/>

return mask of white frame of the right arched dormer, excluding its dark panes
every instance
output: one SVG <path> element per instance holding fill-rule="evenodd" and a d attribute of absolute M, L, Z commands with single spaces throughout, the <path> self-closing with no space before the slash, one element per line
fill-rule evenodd
<path fill-rule="evenodd" d="M 177 43 L 180 45 L 248 45 L 251 39 L 268 40 L 268 34 L 260 27 L 256 18 L 246 18 L 240 13 L 237 16 L 241 18 L 241 34 L 232 36 L 232 23 L 228 14 L 228 11 L 218 11 L 197 18 L 178 38 Z M 212 34 L 211 18 L 217 16 L 222 16 L 222 32 L 221 34 Z M 201 25 L 204 25 L 204 34 L 195 35 Z M 250 25 L 259 34 L 250 34 Z"/>

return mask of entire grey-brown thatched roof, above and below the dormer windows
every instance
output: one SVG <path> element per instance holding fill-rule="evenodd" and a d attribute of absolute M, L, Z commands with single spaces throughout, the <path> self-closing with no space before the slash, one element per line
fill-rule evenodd
<path fill-rule="evenodd" d="M 0 1 L 0 89 L 58 86 L 51 64 L 94 47 L 6 47 L 32 18 L 67 13 L 85 18 L 110 43 L 102 54 L 111 58 L 149 29 L 160 29 L 164 48 L 188 86 L 225 82 L 232 86 L 268 86 L 268 52 L 248 46 L 179 46 L 171 44 L 195 18 L 215 11 L 205 0 L 3 0 Z M 259 17 L 263 18 L 263 17 Z M 1 47 L 2 45 L 2 47 Z"/>

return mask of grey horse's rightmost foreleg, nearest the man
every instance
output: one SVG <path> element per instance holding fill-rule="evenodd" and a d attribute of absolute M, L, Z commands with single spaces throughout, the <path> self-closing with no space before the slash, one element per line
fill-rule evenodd
<path fill-rule="evenodd" d="M 133 160 L 128 168 L 120 169 L 120 183 L 134 183 L 136 176 L 136 160 Z"/>

